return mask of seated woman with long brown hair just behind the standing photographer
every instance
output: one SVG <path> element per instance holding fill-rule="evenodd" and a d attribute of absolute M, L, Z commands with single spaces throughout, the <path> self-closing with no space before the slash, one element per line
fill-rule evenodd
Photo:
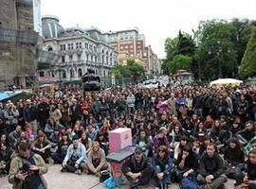
<path fill-rule="evenodd" d="M 36 139 L 31 143 L 31 149 L 41 155 L 46 163 L 53 164 L 54 161 L 51 158 L 50 148 L 51 143 L 47 140 L 46 134 L 42 129 L 39 129 Z"/>

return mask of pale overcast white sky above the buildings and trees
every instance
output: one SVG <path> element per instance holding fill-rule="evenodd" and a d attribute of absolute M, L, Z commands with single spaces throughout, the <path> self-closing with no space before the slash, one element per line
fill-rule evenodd
<path fill-rule="evenodd" d="M 42 15 L 55 15 L 66 27 L 98 27 L 102 32 L 137 26 L 159 58 L 166 38 L 179 29 L 192 34 L 200 21 L 256 20 L 256 0 L 41 0 Z"/>

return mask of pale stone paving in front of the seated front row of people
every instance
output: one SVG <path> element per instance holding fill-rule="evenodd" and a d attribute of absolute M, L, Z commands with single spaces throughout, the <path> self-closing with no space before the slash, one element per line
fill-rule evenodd
<path fill-rule="evenodd" d="M 48 183 L 48 189 L 103 189 L 104 185 L 99 184 L 99 178 L 93 175 L 76 175 L 72 173 L 61 173 L 61 165 L 50 165 L 48 173 L 45 175 Z M 229 180 L 226 184 L 226 189 L 233 188 L 233 180 Z M 11 189 L 11 185 L 8 182 L 7 177 L 0 179 L 1 189 Z M 119 187 L 121 189 L 129 189 L 127 181 Z M 147 186 L 139 187 L 139 189 L 153 189 L 155 188 L 153 183 L 149 183 Z M 172 184 L 169 189 L 178 189 L 178 184 Z"/>

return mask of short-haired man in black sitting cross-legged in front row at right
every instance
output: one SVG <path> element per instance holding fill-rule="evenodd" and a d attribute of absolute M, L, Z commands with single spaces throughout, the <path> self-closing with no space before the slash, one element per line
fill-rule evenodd
<path fill-rule="evenodd" d="M 216 149 L 217 146 L 210 143 L 199 161 L 197 180 L 204 189 L 217 189 L 228 181 L 224 162 Z"/>

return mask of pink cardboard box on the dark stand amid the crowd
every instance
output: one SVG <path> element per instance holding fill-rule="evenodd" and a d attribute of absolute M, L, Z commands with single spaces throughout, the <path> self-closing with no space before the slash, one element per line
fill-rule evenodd
<path fill-rule="evenodd" d="M 114 129 L 109 132 L 109 152 L 118 151 L 126 146 L 132 146 L 132 130 L 127 128 Z"/>

